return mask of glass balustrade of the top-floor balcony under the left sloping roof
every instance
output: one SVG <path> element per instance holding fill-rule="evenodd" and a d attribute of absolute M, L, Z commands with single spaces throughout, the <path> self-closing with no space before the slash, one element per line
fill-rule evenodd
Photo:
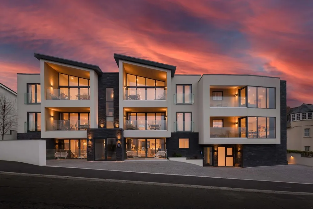
<path fill-rule="evenodd" d="M 46 100 L 90 100 L 90 89 L 47 89 Z"/>

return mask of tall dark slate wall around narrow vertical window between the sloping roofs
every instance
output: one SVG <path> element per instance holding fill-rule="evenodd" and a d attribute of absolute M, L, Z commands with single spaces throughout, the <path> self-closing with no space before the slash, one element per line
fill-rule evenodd
<path fill-rule="evenodd" d="M 114 128 L 119 128 L 119 74 L 118 72 L 103 73 L 98 77 L 98 126 L 106 128 L 106 88 L 113 88 Z M 101 127 L 102 126 L 102 127 Z M 116 127 L 117 126 L 117 127 Z"/>

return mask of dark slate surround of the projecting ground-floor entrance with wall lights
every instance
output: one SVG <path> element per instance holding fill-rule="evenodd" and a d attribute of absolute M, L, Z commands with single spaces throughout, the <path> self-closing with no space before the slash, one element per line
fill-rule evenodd
<path fill-rule="evenodd" d="M 95 140 L 104 138 L 116 138 L 116 161 L 124 160 L 124 137 L 123 129 L 87 129 L 87 161 L 94 161 L 94 145 Z M 121 143 L 121 147 L 117 147 L 118 141 Z"/>

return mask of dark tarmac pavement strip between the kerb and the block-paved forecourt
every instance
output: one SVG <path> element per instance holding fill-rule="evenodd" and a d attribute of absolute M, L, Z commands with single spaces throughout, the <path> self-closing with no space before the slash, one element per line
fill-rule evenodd
<path fill-rule="evenodd" d="M 88 163 L 88 162 L 87 162 Z M 121 164 L 122 165 L 122 164 Z M 27 163 L 0 161 L 0 171 L 23 174 L 41 174 L 70 176 L 80 178 L 96 178 L 106 180 L 139 181 L 146 183 L 198 185 L 206 187 L 237 188 L 245 190 L 271 190 L 280 192 L 313 193 L 312 184 L 284 183 L 260 180 L 227 179 L 214 177 L 184 176 L 172 174 L 135 173 L 125 171 L 109 171 L 64 167 L 36 166 Z"/>

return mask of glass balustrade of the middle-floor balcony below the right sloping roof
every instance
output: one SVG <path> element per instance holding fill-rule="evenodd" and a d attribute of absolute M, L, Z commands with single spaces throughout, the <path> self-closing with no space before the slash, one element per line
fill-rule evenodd
<path fill-rule="evenodd" d="M 125 120 L 127 131 L 164 131 L 167 130 L 167 120 Z"/>

